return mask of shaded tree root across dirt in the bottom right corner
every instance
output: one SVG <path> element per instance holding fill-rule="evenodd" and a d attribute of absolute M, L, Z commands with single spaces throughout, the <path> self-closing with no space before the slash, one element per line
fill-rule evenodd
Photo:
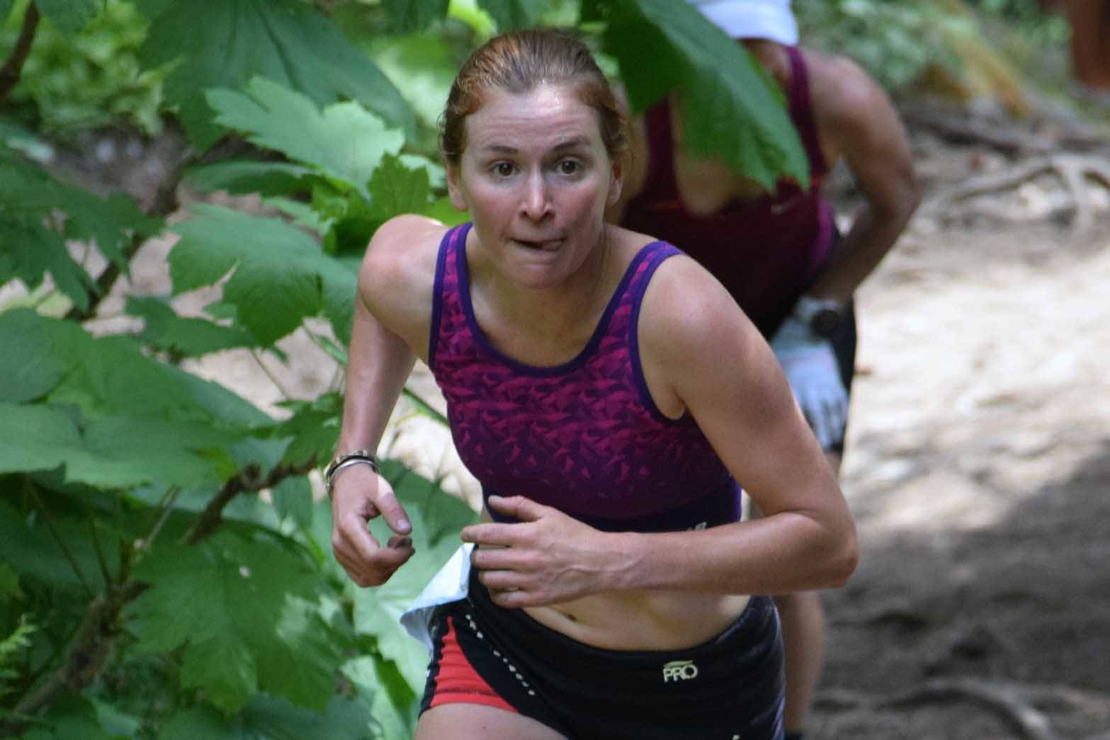
<path fill-rule="evenodd" d="M 1063 704 L 1084 713 L 1110 712 L 1110 697 L 1071 687 L 1022 685 L 977 678 L 935 678 L 906 691 L 871 696 L 860 691 L 829 690 L 818 693 L 815 707 L 828 711 L 852 709 L 909 709 L 930 703 L 972 701 L 1009 723 L 1027 740 L 1059 740 L 1045 712 L 1033 702 Z"/>

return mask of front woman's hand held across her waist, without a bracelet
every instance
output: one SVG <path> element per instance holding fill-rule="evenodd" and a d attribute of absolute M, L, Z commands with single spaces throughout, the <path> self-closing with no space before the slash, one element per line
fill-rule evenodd
<path fill-rule="evenodd" d="M 505 608 L 539 607 L 607 590 L 605 535 L 558 509 L 523 496 L 491 496 L 488 506 L 517 519 L 483 523 L 463 529 L 465 543 L 477 547 L 471 564 Z"/>

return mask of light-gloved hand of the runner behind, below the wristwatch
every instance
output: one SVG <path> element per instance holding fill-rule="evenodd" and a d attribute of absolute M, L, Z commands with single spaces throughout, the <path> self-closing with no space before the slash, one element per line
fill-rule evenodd
<path fill-rule="evenodd" d="M 848 420 L 848 392 L 840 379 L 833 343 L 815 337 L 790 316 L 771 337 L 770 347 L 821 449 L 837 448 L 844 443 Z"/>

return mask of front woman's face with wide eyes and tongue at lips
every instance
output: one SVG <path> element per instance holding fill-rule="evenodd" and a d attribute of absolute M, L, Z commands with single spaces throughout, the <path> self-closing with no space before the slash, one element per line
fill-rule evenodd
<path fill-rule="evenodd" d="M 466 119 L 465 148 L 447 168 L 452 203 L 470 209 L 485 253 L 524 285 L 562 284 L 603 239 L 620 168 L 594 109 L 569 85 L 491 90 Z"/>

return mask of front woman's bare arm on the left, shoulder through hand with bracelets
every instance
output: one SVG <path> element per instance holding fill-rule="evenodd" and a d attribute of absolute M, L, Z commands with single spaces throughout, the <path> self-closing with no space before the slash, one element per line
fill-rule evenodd
<path fill-rule="evenodd" d="M 398 216 L 383 224 L 366 249 L 359 271 L 337 454 L 377 449 L 416 359 L 413 347 L 427 342 L 434 244 L 442 232 L 436 222 Z M 418 344 L 421 338 L 424 345 Z M 369 465 L 344 467 L 333 481 L 335 559 L 360 586 L 381 585 L 412 557 L 412 525 L 393 487 Z M 366 528 L 377 516 L 394 533 L 384 547 Z"/>

